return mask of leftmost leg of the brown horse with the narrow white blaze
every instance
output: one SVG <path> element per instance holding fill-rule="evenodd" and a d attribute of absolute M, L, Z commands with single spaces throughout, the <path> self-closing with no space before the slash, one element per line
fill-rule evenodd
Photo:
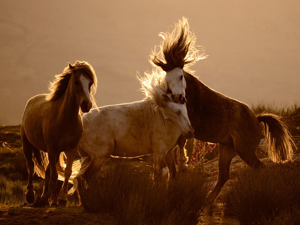
<path fill-rule="evenodd" d="M 32 160 L 32 153 L 35 147 L 29 142 L 25 131 L 23 129 L 23 126 L 21 126 L 21 139 L 22 139 L 22 146 L 23 146 L 23 153 L 24 156 L 27 160 L 26 166 L 27 166 L 27 171 L 28 171 L 28 183 L 26 186 L 26 201 L 28 203 L 33 203 L 34 202 L 34 195 L 35 192 L 33 191 L 33 173 L 34 173 L 34 162 Z M 37 149 L 36 149 L 37 150 Z"/>

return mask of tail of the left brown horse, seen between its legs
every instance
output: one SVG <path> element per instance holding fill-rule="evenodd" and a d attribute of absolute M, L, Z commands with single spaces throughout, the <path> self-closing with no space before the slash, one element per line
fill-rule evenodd
<path fill-rule="evenodd" d="M 45 179 L 45 172 L 48 166 L 48 154 L 40 151 L 38 149 L 33 149 L 33 157 L 32 160 L 34 162 L 35 168 L 34 171 L 35 173 Z"/>

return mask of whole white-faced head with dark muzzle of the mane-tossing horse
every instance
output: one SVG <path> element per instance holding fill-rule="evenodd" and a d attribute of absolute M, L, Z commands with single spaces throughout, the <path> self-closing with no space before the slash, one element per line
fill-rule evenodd
<path fill-rule="evenodd" d="M 186 82 L 182 69 L 176 67 L 166 72 L 165 81 L 168 84 L 167 92 L 172 93 L 172 99 L 175 103 L 185 103 Z"/>

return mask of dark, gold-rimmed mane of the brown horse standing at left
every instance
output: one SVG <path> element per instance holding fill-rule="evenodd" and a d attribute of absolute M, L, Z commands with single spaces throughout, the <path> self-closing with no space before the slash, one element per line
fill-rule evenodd
<path fill-rule="evenodd" d="M 95 95 L 97 89 L 97 77 L 92 65 L 85 61 L 76 61 L 75 64 L 72 66 L 74 67 L 73 69 L 70 69 L 69 66 L 67 66 L 62 72 L 62 74 L 55 75 L 55 80 L 53 82 L 49 82 L 50 93 L 48 94 L 47 99 L 50 101 L 54 101 L 60 98 L 63 95 L 63 93 L 65 93 L 72 74 L 80 71 L 89 80 L 93 82 L 93 88 L 90 96 L 92 104 L 96 106 L 95 99 L 93 96 Z"/>

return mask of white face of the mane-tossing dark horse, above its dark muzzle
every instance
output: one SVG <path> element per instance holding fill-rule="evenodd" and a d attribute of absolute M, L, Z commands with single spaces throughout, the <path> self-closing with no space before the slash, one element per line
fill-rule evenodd
<path fill-rule="evenodd" d="M 185 97 L 186 82 L 183 77 L 182 69 L 176 67 L 171 71 L 166 72 L 165 81 L 172 92 L 172 95 L 179 95 Z"/>

